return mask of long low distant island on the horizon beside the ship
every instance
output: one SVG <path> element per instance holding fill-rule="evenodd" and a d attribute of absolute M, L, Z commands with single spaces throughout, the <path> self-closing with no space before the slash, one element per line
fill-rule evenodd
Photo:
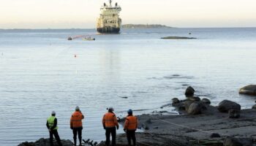
<path fill-rule="evenodd" d="M 122 28 L 173 28 L 161 24 L 124 24 Z"/>

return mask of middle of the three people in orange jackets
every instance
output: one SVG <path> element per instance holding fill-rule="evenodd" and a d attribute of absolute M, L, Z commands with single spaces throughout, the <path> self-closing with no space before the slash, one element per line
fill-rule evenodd
<path fill-rule="evenodd" d="M 106 146 L 110 145 L 110 134 L 112 137 L 112 146 L 116 145 L 116 128 L 118 129 L 118 122 L 116 115 L 113 113 L 113 107 L 108 108 L 108 112 L 102 118 L 103 128 L 106 130 Z"/>

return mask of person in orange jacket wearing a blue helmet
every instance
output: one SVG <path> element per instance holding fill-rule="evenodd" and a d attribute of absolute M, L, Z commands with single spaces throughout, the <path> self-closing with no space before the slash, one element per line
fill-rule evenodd
<path fill-rule="evenodd" d="M 132 110 L 128 110 L 127 112 L 128 115 L 124 122 L 124 131 L 127 133 L 128 145 L 131 145 L 131 139 L 133 145 L 136 145 L 135 131 L 138 128 L 138 120 L 134 115 L 132 115 Z"/>

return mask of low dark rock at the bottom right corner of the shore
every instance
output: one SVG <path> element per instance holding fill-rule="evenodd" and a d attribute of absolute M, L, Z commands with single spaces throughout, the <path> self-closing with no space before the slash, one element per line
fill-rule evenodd
<path fill-rule="evenodd" d="M 228 137 L 224 140 L 224 146 L 252 146 L 253 140 L 251 138 L 235 138 Z"/>

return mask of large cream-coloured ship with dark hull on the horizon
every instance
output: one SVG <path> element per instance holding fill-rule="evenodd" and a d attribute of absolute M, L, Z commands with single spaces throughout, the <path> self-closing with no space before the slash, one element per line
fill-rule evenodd
<path fill-rule="evenodd" d="M 97 31 L 101 34 L 118 34 L 121 29 L 120 12 L 121 7 L 117 3 L 113 6 L 112 0 L 109 0 L 109 4 L 104 3 L 100 8 Z"/>

